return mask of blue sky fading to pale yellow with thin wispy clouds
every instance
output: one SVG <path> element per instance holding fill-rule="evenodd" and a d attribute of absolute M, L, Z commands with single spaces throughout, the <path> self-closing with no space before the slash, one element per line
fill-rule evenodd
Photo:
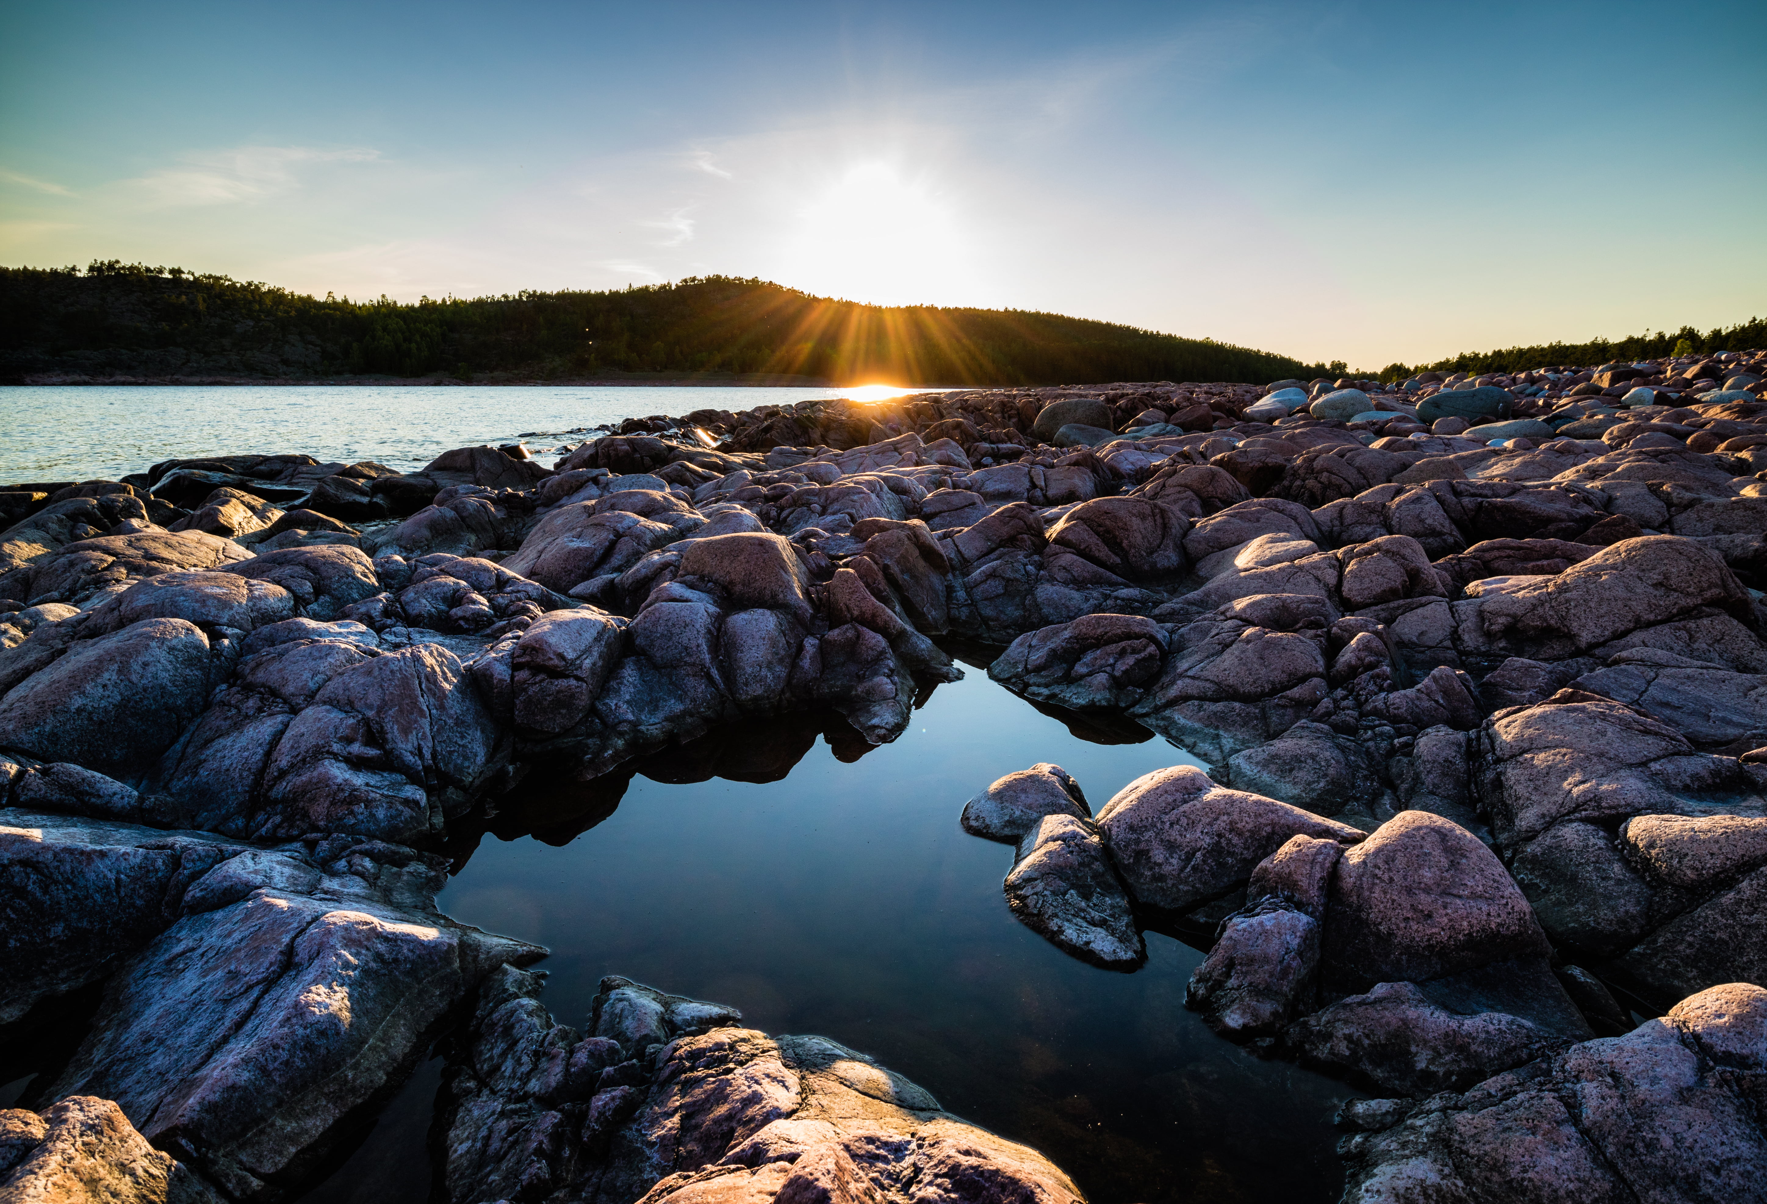
<path fill-rule="evenodd" d="M 0 263 L 689 275 L 1378 369 L 1767 314 L 1767 4 L 5 0 Z"/>

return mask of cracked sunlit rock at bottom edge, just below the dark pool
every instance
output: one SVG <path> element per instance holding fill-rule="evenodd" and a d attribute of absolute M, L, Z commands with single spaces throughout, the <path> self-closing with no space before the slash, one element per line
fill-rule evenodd
<path fill-rule="evenodd" d="M 633 1063 L 641 1070 L 636 1084 L 587 1100 L 509 1084 L 495 1054 L 544 1045 L 557 1059 L 574 1038 L 553 1036 L 560 1026 L 530 1006 L 539 980 L 523 978 L 505 976 L 500 994 L 481 1003 L 474 1061 L 451 1087 L 442 1183 L 451 1204 L 518 1193 L 654 1204 L 737 1195 L 781 1204 L 878 1200 L 910 1192 L 984 1202 L 1081 1199 L 1041 1155 L 942 1112 L 926 1091 L 864 1054 L 820 1036 L 733 1027 L 739 1017 L 730 1010 L 680 1024 L 657 1006 L 647 1035 L 666 1043 L 650 1047 L 654 1061 Z M 597 1017 L 620 990 L 666 997 L 627 980 L 604 980 L 603 989 Z M 581 1045 L 569 1049 L 574 1059 Z M 481 1061 L 481 1050 L 493 1056 Z"/>

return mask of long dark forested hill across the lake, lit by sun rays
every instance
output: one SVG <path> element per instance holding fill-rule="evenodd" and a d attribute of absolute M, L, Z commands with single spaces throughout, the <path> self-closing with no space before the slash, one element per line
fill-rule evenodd
<path fill-rule="evenodd" d="M 1343 365 L 1329 365 L 1343 371 Z M 767 281 L 406 305 L 117 261 L 0 268 L 0 380 L 35 376 L 592 380 L 797 374 L 838 385 L 1265 383 L 1322 364 L 1060 314 L 880 307 Z"/>

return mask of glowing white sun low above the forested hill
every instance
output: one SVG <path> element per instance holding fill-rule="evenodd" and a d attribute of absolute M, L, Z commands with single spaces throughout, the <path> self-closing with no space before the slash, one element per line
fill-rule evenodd
<path fill-rule="evenodd" d="M 887 162 L 850 168 L 799 215 L 788 279 L 873 305 L 952 304 L 970 290 L 970 240 L 928 180 Z"/>

